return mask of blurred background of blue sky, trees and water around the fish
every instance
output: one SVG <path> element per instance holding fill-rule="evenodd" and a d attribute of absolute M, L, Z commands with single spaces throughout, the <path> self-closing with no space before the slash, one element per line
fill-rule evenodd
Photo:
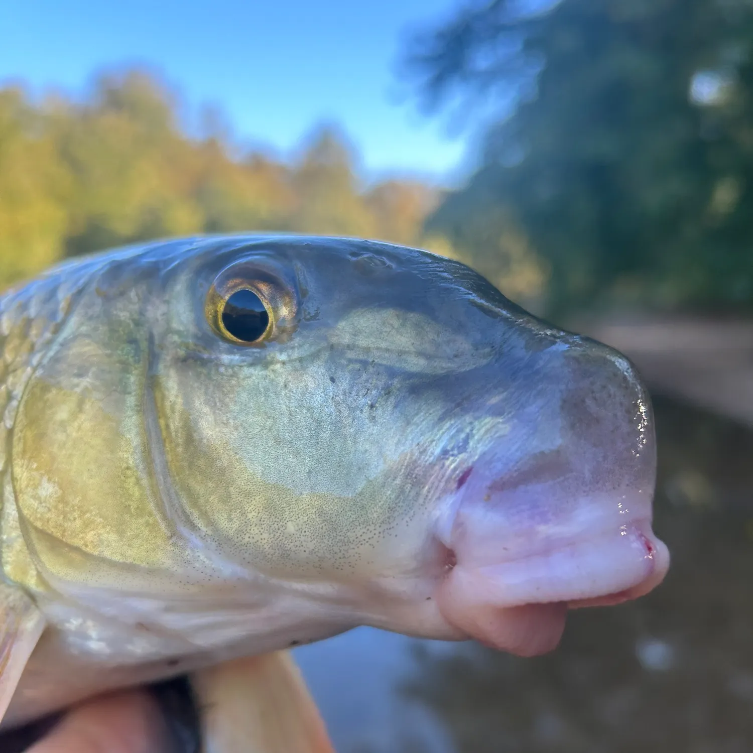
<path fill-rule="evenodd" d="M 623 349 L 662 587 L 518 660 L 297 650 L 340 753 L 753 747 L 753 4 L 0 4 L 0 288 L 161 236 L 419 245 Z"/>

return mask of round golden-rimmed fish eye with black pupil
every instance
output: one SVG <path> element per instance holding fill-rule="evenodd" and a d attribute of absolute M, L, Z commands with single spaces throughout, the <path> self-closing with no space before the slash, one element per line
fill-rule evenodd
<path fill-rule="evenodd" d="M 289 275 L 254 260 L 221 270 L 204 303 L 215 334 L 242 346 L 286 342 L 297 328 L 298 310 L 297 286 Z"/>

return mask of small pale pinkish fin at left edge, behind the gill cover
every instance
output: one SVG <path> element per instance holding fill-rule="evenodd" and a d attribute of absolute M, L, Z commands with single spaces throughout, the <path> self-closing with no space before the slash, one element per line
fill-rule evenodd
<path fill-rule="evenodd" d="M 44 630 L 44 616 L 20 590 L 0 584 L 0 721 Z"/>

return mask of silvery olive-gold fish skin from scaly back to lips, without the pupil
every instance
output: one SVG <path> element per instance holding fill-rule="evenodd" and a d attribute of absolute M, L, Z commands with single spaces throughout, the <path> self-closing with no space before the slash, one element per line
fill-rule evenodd
<path fill-rule="evenodd" d="M 240 290 L 263 341 L 225 328 Z M 0 326 L 2 571 L 44 617 L 5 724 L 363 624 L 537 654 L 669 565 L 633 367 L 455 261 L 160 242 Z"/>

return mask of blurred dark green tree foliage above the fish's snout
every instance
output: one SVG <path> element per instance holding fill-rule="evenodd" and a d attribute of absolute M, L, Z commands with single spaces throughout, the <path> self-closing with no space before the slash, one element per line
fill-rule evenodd
<path fill-rule="evenodd" d="M 428 226 L 489 268 L 501 233 L 550 273 L 550 312 L 753 307 L 753 5 L 469 5 L 417 37 L 428 105 L 505 102 L 477 172 Z"/>

